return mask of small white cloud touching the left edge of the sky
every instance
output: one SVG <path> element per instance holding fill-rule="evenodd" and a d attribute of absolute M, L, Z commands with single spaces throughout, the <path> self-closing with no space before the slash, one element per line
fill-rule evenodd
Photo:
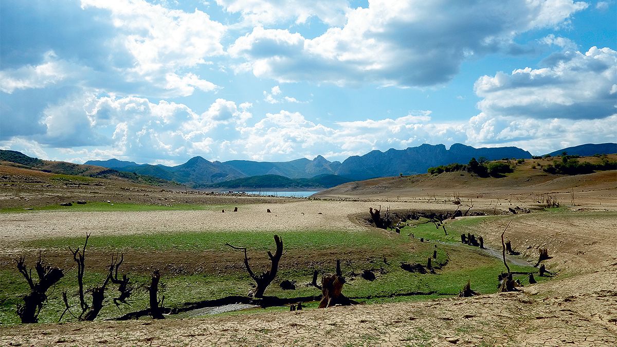
<path fill-rule="evenodd" d="M 72 74 L 72 66 L 48 51 L 39 65 L 24 65 L 18 69 L 0 71 L 0 91 L 11 94 L 16 89 L 44 88 Z"/>

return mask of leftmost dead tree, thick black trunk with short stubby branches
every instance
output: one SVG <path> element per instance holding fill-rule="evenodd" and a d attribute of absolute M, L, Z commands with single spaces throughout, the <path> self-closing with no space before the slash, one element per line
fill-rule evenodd
<path fill-rule="evenodd" d="M 64 277 L 64 272 L 59 267 L 43 265 L 40 252 L 35 264 L 38 283 L 35 283 L 32 277 L 32 269 L 27 269 L 23 256 L 17 259 L 17 270 L 30 286 L 30 294 L 23 296 L 23 305 L 17 305 L 17 316 L 22 319 L 22 323 L 36 323 L 43 304 L 47 301 L 47 291 Z"/>

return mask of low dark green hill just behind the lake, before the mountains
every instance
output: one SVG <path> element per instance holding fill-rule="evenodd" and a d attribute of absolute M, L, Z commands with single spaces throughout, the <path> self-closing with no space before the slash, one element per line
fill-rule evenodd
<path fill-rule="evenodd" d="M 197 186 L 196 188 L 224 188 L 224 189 L 323 189 L 351 182 L 349 178 L 337 175 L 317 175 L 311 178 L 289 178 L 281 175 L 259 175 L 246 178 L 238 178 L 209 185 Z"/>

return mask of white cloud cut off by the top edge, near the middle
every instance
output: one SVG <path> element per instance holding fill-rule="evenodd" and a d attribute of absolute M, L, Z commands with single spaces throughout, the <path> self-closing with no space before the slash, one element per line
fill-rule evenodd
<path fill-rule="evenodd" d="M 317 17 L 328 25 L 345 23 L 350 10 L 346 0 L 216 0 L 227 12 L 241 14 L 246 25 L 268 25 L 289 20 L 305 23 Z"/>

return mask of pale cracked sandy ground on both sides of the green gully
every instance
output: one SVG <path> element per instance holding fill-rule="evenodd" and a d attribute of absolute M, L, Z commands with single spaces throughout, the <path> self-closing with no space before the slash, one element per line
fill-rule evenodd
<path fill-rule="evenodd" d="M 489 206 L 490 201 L 475 202 Z M 389 203 L 393 209 L 454 209 L 452 204 Z M 242 206 L 239 212 L 33 212 L 0 214 L 2 247 L 12 241 L 93 233 L 165 230 L 293 230 L 363 228 L 348 216 L 375 203 L 299 201 Z M 507 206 L 505 206 L 507 207 Z M 271 214 L 265 212 L 272 210 Z M 216 346 L 615 346 L 617 345 L 617 227 L 615 212 L 574 207 L 573 214 L 512 217 L 507 237 L 529 258 L 553 256 L 555 280 L 519 293 L 326 310 L 219 316 L 159 322 L 93 322 L 0 328 L 0 345 Z M 302 214 L 304 212 L 304 215 Z M 318 214 L 319 212 L 323 214 Z M 497 248 L 503 220 L 486 222 Z M 499 243 L 498 243 L 499 242 Z M 473 279 L 472 279 L 473 285 Z"/>

